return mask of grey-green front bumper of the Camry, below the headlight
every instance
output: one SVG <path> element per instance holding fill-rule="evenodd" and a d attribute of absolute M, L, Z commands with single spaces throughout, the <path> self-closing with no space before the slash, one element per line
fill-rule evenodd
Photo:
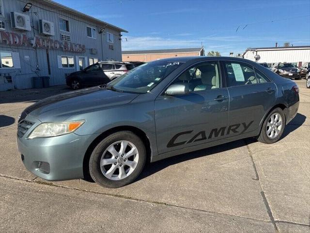
<path fill-rule="evenodd" d="M 31 117 L 27 117 L 31 121 Z M 27 139 L 36 122 L 22 137 L 17 147 L 27 170 L 48 181 L 83 178 L 83 159 L 86 150 L 98 136 L 69 133 L 62 136 Z"/>

